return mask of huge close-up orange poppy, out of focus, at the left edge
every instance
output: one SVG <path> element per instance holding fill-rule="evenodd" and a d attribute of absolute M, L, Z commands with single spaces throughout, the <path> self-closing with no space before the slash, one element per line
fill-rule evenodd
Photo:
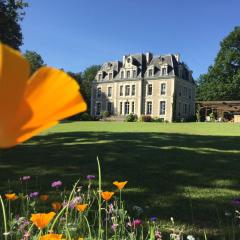
<path fill-rule="evenodd" d="M 0 44 L 0 148 L 13 147 L 59 120 L 86 110 L 79 85 L 63 71 L 29 63 Z"/>

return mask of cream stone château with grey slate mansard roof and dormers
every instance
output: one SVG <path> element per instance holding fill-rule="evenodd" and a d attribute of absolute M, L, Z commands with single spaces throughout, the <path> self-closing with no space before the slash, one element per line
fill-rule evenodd
<path fill-rule="evenodd" d="M 189 119 L 195 115 L 195 84 L 191 76 L 192 71 L 180 62 L 177 55 L 153 57 L 147 53 L 123 56 L 122 62 L 105 63 L 98 72 L 92 88 L 91 114 L 96 115 L 98 103 L 101 103 L 101 111 L 108 111 L 111 103 L 111 114 L 116 116 L 126 115 L 125 106 L 129 105 L 128 113 L 133 112 L 138 117 L 151 115 L 167 121 Z M 166 86 L 164 94 L 161 93 L 162 84 Z M 148 93 L 150 85 L 151 94 Z M 130 87 L 128 96 L 125 94 L 126 86 Z M 134 95 L 132 86 L 135 86 Z M 101 97 L 96 95 L 99 87 Z M 109 88 L 112 88 L 111 96 L 108 94 Z"/>

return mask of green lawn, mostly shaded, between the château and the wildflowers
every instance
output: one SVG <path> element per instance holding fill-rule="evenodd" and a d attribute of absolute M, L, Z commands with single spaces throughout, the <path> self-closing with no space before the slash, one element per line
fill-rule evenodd
<path fill-rule="evenodd" d="M 1 152 L 0 190 L 22 175 L 36 176 L 42 191 L 57 179 L 84 184 L 97 174 L 97 155 L 104 189 L 128 180 L 125 198 L 143 217 L 214 231 L 240 195 L 240 125 L 231 123 L 62 123 Z"/>

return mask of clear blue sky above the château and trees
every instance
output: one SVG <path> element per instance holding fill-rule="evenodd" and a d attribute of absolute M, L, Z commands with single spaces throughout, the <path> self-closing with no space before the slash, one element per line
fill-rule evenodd
<path fill-rule="evenodd" d="M 220 41 L 240 25 L 239 0 L 28 0 L 22 50 L 49 66 L 80 72 L 150 51 L 177 53 L 205 73 Z"/>

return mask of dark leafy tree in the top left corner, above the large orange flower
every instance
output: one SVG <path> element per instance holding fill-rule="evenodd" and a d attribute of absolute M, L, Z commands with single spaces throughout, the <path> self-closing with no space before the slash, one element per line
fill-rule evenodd
<path fill-rule="evenodd" d="M 23 43 L 19 22 L 27 6 L 23 0 L 0 0 L 0 41 L 15 49 Z"/>

